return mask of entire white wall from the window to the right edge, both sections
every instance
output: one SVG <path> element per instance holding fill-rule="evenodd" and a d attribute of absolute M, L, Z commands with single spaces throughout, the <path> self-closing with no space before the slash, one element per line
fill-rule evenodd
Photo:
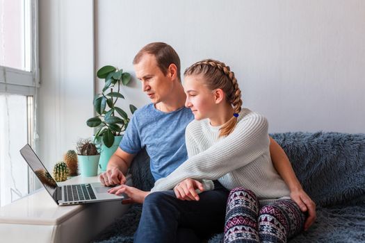
<path fill-rule="evenodd" d="M 270 132 L 365 133 L 365 1 L 40 0 L 39 12 L 39 142 L 49 166 L 92 135 L 95 69 L 134 75 L 133 57 L 155 41 L 176 49 L 182 71 L 203 58 L 230 65 L 244 106 L 268 117 Z M 126 110 L 149 102 L 139 81 L 122 93 Z"/>

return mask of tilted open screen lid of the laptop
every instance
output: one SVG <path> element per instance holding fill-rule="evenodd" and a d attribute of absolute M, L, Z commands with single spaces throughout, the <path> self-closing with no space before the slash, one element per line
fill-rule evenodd
<path fill-rule="evenodd" d="M 46 188 L 47 192 L 51 195 L 52 199 L 57 200 L 57 190 L 58 186 L 51 174 L 48 173 L 46 167 L 40 162 L 38 156 L 34 153 L 33 149 L 29 144 L 26 144 L 22 149 L 20 149 L 20 154 L 22 154 L 24 160 L 28 163 L 29 167 L 33 170 L 34 174 L 40 180 L 40 183 Z"/>

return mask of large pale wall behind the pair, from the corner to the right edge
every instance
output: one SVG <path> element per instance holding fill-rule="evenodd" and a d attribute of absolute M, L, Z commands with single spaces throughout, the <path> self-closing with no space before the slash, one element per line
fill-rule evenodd
<path fill-rule="evenodd" d="M 113 0 L 95 11 L 96 67 L 133 72 L 141 47 L 167 42 L 182 71 L 203 58 L 230 65 L 270 132 L 365 133 L 365 1 Z M 137 81 L 124 94 L 149 101 Z"/>

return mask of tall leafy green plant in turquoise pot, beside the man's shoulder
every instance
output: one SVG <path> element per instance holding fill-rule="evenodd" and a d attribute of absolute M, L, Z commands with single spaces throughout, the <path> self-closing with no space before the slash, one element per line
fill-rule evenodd
<path fill-rule="evenodd" d="M 86 121 L 90 127 L 96 128 L 95 141 L 99 143 L 101 156 L 99 165 L 102 171 L 106 170 L 109 158 L 117 149 L 122 140 L 122 132 L 128 126 L 129 117 L 124 110 L 116 106 L 118 99 L 124 99 L 120 93 L 120 85 L 128 85 L 131 74 L 122 69 L 107 65 L 97 71 L 97 77 L 104 79 L 104 88 L 96 94 L 93 101 L 97 116 Z M 137 108 L 129 105 L 133 114 Z"/>

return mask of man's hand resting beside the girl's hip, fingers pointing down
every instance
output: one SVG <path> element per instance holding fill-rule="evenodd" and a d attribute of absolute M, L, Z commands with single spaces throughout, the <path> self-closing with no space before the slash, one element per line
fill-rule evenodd
<path fill-rule="evenodd" d="M 291 191 L 290 197 L 295 203 L 298 204 L 302 212 L 308 212 L 308 218 L 305 221 L 304 230 L 307 231 L 308 228 L 314 224 L 316 221 L 316 203 L 311 200 L 307 193 L 305 193 L 302 188 L 299 190 Z"/>

